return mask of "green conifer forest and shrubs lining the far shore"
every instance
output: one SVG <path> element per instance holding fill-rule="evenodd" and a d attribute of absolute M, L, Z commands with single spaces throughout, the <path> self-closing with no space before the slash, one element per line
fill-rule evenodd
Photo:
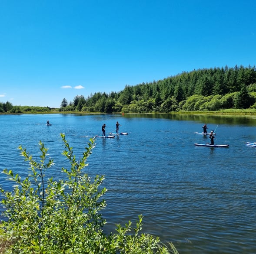
<path fill-rule="evenodd" d="M 137 85 L 123 91 L 95 92 L 87 98 L 66 98 L 59 112 L 148 113 L 256 109 L 256 67 L 204 68 Z M 20 111 L 20 112 L 19 112 Z M 13 106 L 0 103 L 0 112 L 52 111 L 49 107 Z"/>

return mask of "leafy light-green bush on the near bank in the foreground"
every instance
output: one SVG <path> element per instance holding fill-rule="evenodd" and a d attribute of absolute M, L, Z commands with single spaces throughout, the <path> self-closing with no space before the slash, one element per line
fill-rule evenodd
<path fill-rule="evenodd" d="M 133 228 L 129 221 L 124 227 L 116 225 L 116 233 L 106 235 L 106 221 L 100 211 L 106 206 L 100 189 L 104 176 L 91 179 L 84 173 L 87 158 L 95 140 L 90 139 L 83 157 L 76 160 L 73 148 L 60 134 L 65 146 L 63 155 L 70 161 L 70 170 L 62 168 L 63 179 L 46 179 L 46 171 L 53 166 L 47 159 L 48 149 L 40 141 L 40 161 L 33 159 L 26 149 L 19 147 L 30 174 L 22 180 L 11 170 L 3 173 L 14 182 L 13 191 L 0 189 L 5 221 L 0 224 L 0 251 L 26 254 L 95 254 L 95 253 L 178 253 L 173 244 L 166 247 L 159 238 L 140 233 L 142 215 Z"/>

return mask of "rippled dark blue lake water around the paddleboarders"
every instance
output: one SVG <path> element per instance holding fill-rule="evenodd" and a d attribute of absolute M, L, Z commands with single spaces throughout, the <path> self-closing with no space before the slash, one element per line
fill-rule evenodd
<path fill-rule="evenodd" d="M 142 214 L 143 232 L 172 241 L 180 254 L 256 253 L 256 148 L 245 145 L 256 141 L 256 117 L 0 115 L 0 171 L 27 176 L 17 147 L 38 156 L 41 140 L 56 163 L 49 177 L 58 179 L 66 163 L 60 133 L 79 157 L 102 124 L 114 132 L 116 121 L 129 134 L 98 138 L 88 159 L 89 174 L 106 177 L 106 232 Z M 205 123 L 209 130 L 218 126 L 215 143 L 228 148 L 194 146 L 209 142 L 194 133 Z M 10 189 L 3 174 L 0 184 Z"/>

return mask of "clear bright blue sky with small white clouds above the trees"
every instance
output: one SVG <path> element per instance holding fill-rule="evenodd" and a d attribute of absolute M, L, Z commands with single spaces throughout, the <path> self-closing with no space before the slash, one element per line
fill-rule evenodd
<path fill-rule="evenodd" d="M 0 101 L 60 107 L 181 72 L 256 65 L 255 0 L 0 1 Z"/>

